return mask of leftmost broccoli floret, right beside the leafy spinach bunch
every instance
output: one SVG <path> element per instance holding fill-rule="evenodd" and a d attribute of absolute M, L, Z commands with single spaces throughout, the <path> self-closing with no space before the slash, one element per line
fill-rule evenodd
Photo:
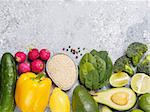
<path fill-rule="evenodd" d="M 134 71 L 130 66 L 130 59 L 127 56 L 122 56 L 115 61 L 114 72 L 126 72 L 129 75 L 133 75 Z"/>

